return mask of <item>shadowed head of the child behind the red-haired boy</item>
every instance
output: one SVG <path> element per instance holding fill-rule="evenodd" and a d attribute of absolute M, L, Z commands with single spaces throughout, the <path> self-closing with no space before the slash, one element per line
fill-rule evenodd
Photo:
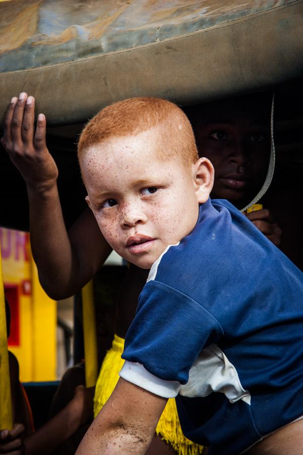
<path fill-rule="evenodd" d="M 270 156 L 269 115 L 249 107 L 196 110 L 191 116 L 200 156 L 215 168 L 212 198 L 227 199 L 243 208 L 261 189 Z"/>

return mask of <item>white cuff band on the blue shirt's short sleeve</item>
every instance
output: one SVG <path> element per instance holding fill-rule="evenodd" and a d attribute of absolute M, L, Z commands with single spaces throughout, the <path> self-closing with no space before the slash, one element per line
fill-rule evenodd
<path fill-rule="evenodd" d="M 164 398 L 174 398 L 178 395 L 181 384 L 178 381 L 166 381 L 149 373 L 141 363 L 125 360 L 119 376 L 148 392 Z"/>

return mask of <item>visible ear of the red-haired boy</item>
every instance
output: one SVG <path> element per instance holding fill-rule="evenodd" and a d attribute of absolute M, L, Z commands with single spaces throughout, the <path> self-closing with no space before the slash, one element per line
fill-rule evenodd
<path fill-rule="evenodd" d="M 199 204 L 206 202 L 214 185 L 214 166 L 207 158 L 199 158 L 193 165 L 196 197 Z"/>

